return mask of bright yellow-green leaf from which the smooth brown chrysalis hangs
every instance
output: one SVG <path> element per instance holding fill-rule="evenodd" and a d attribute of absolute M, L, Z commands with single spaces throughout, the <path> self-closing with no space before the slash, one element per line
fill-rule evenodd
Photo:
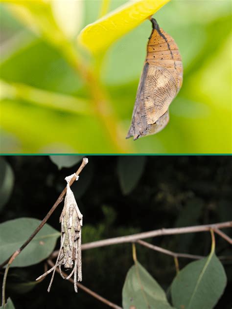
<path fill-rule="evenodd" d="M 86 26 L 78 36 L 78 43 L 84 45 L 93 53 L 101 52 L 156 13 L 168 1 L 129 1 L 98 21 Z"/>

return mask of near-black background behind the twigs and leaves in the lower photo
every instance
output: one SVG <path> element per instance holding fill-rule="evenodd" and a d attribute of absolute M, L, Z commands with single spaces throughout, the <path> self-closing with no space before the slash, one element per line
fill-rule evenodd
<path fill-rule="evenodd" d="M 232 158 L 230 156 L 147 156 L 136 188 L 123 195 L 118 181 L 117 156 L 88 156 L 89 164 L 72 190 L 84 216 L 83 243 L 162 227 L 209 224 L 232 220 Z M 11 198 L 0 222 L 32 217 L 43 219 L 65 187 L 64 178 L 80 163 L 58 170 L 48 156 L 6 156 L 15 174 Z M 127 157 L 128 162 L 130 157 Z M 128 163 L 129 164 L 129 163 Z M 48 224 L 60 230 L 60 205 Z M 231 230 L 226 229 L 228 235 Z M 210 234 L 195 233 L 148 240 L 177 252 L 208 255 Z M 57 246 L 58 248 L 58 246 Z M 83 251 L 83 285 L 121 306 L 121 290 L 133 264 L 130 243 Z M 216 254 L 232 255 L 229 243 L 216 235 Z M 173 258 L 137 244 L 139 262 L 166 290 L 175 276 Z M 182 268 L 191 260 L 179 259 Z M 216 309 L 231 308 L 232 262 L 223 262 L 228 286 Z M 16 309 L 109 308 L 55 275 L 25 293 L 19 283 L 34 281 L 43 263 L 9 270 L 6 296 Z M 2 274 L 2 271 L 0 272 Z M 2 276 L 1 276 L 2 279 Z"/>

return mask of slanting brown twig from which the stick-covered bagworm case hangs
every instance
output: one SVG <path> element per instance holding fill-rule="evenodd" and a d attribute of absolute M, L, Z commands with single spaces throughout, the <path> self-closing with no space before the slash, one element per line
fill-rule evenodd
<path fill-rule="evenodd" d="M 88 163 L 88 159 L 87 158 L 83 158 L 83 161 L 81 163 L 81 166 L 79 167 L 79 169 L 76 171 L 76 175 L 79 175 L 81 173 L 81 171 L 83 170 L 83 168 L 86 166 L 86 164 Z M 72 185 L 72 183 L 76 180 L 76 177 L 73 176 L 71 181 L 70 181 L 70 186 Z M 35 231 L 31 234 L 31 236 L 25 241 L 25 243 L 22 244 L 22 246 L 16 250 L 6 261 L 4 261 L 1 265 L 0 268 L 2 268 L 4 265 L 6 265 L 7 263 L 10 265 L 14 259 L 20 254 L 20 252 L 23 251 L 23 249 L 25 248 L 25 246 L 30 243 L 30 241 L 32 241 L 32 239 L 35 237 L 35 235 L 41 230 L 41 228 L 45 225 L 46 221 L 49 219 L 49 217 L 51 216 L 51 214 L 53 213 L 53 211 L 56 209 L 56 207 L 62 202 L 62 200 L 64 199 L 64 196 L 66 194 L 67 188 L 65 187 L 65 189 L 62 191 L 62 193 L 60 194 L 59 198 L 56 200 L 55 204 L 51 207 L 51 209 L 48 211 L 48 213 L 46 214 L 44 220 L 40 223 L 40 225 L 35 229 Z"/>

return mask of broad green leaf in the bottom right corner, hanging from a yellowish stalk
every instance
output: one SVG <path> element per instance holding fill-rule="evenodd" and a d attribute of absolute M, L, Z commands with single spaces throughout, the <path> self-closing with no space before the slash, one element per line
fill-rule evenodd
<path fill-rule="evenodd" d="M 212 309 L 226 287 L 223 265 L 214 253 L 189 263 L 173 280 L 171 296 L 177 309 Z"/>

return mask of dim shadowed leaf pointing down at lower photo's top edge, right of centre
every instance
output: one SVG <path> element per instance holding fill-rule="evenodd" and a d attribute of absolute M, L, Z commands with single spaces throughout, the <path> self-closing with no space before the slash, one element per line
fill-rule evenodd
<path fill-rule="evenodd" d="M 117 173 L 124 195 L 129 194 L 138 184 L 145 167 L 145 156 L 119 156 Z"/>

